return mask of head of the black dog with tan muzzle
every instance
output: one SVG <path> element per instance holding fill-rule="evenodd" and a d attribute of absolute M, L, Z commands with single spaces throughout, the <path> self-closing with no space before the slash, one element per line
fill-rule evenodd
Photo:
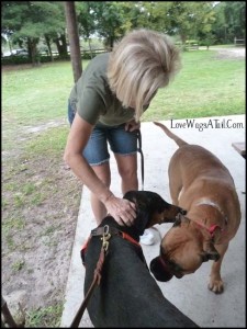
<path fill-rule="evenodd" d="M 186 211 L 166 202 L 155 192 L 128 191 L 123 197 L 136 205 L 137 216 L 134 226 L 139 235 L 155 224 L 173 223 L 177 215 L 186 214 Z"/>

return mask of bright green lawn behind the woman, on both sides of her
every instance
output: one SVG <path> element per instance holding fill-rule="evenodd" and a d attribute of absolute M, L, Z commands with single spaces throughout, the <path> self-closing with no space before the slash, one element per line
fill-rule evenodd
<path fill-rule="evenodd" d="M 69 61 L 3 71 L 4 127 L 66 117 L 72 84 Z M 182 70 L 168 88 L 159 90 L 143 121 L 244 112 L 245 60 L 218 59 L 215 50 L 197 50 L 182 54 Z"/>

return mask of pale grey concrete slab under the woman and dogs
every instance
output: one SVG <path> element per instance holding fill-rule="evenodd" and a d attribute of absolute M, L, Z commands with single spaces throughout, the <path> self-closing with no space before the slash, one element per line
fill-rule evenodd
<path fill-rule="evenodd" d="M 214 152 L 228 168 L 235 180 L 242 205 L 242 223 L 223 261 L 222 276 L 225 282 L 225 292 L 222 295 L 215 295 L 207 290 L 211 261 L 203 263 L 191 275 L 187 275 L 181 280 L 173 277 L 167 283 L 158 282 L 158 285 L 165 297 L 200 327 L 246 328 L 246 160 L 232 147 L 232 143 L 245 141 L 245 115 L 205 117 L 192 120 L 191 122 L 193 122 L 193 126 L 189 126 L 187 120 L 164 121 L 162 123 L 188 143 L 199 144 Z M 207 127 L 201 132 L 199 127 L 202 125 L 207 125 Z M 167 169 L 177 145 L 153 123 L 142 124 L 142 136 L 145 159 L 144 189 L 157 192 L 166 201 L 171 202 Z M 138 160 L 139 162 L 141 160 Z M 120 179 L 112 155 L 111 168 L 111 190 L 117 196 L 121 196 Z M 141 166 L 138 172 L 141 182 Z M 85 269 L 80 260 L 80 248 L 94 227 L 96 222 L 90 207 L 90 193 L 83 186 L 60 327 L 70 326 L 83 299 Z M 164 235 L 171 227 L 171 224 L 162 224 L 156 227 Z M 143 246 L 147 264 L 159 253 L 160 237 L 156 230 L 154 230 L 154 234 L 156 235 L 156 243 Z M 82 317 L 80 327 L 93 327 L 87 311 Z"/>

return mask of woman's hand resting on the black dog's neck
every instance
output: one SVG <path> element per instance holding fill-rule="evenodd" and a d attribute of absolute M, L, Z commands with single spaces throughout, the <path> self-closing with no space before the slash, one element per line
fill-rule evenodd
<path fill-rule="evenodd" d="M 120 198 L 113 194 L 104 203 L 108 213 L 121 226 L 132 226 L 136 217 L 135 204 L 126 198 Z"/>

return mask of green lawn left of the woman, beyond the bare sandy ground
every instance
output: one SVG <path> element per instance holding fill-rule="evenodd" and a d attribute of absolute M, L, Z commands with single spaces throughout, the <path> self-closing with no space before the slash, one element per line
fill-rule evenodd
<path fill-rule="evenodd" d="M 83 67 L 88 61 L 83 63 Z M 69 61 L 4 71 L 2 76 L 3 120 L 35 125 L 66 117 L 67 99 L 74 84 Z"/>

